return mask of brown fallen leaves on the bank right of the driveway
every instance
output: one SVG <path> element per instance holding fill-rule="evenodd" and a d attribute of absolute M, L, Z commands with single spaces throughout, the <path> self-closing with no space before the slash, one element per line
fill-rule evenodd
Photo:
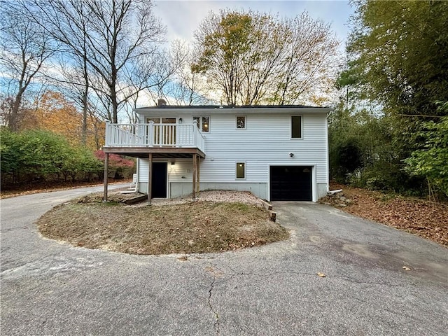
<path fill-rule="evenodd" d="M 414 235 L 448 246 L 448 205 L 412 197 L 384 195 L 379 192 L 332 185 L 332 189 L 342 189 L 351 200 L 343 211 L 377 221 Z M 323 203 L 338 207 L 334 197 L 324 197 Z"/>

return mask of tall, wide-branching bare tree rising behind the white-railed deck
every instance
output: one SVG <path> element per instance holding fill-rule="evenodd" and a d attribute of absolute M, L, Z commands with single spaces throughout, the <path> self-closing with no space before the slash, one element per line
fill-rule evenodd
<path fill-rule="evenodd" d="M 165 28 L 145 0 L 32 0 L 34 22 L 64 45 L 83 69 L 84 92 L 94 91 L 103 116 L 113 123 L 138 90 L 148 85 L 147 73 L 136 76 L 137 64 L 158 57 Z M 22 0 L 25 5 L 26 0 Z M 29 8 L 29 7 L 28 7 Z M 153 66 L 149 66 L 151 71 Z M 84 97 L 84 103 L 87 100 Z"/>

